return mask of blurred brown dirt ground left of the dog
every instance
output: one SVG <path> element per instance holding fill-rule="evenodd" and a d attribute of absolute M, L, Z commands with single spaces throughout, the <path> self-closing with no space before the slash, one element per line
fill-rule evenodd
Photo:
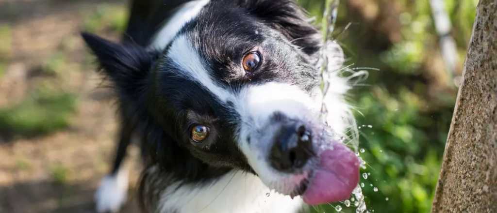
<path fill-rule="evenodd" d="M 93 193 L 109 169 L 116 129 L 112 93 L 99 87 L 91 57 L 79 32 L 85 19 L 109 0 L 0 0 L 0 24 L 12 35 L 6 68 L 0 77 L 0 107 L 19 103 L 40 84 L 76 94 L 70 127 L 34 138 L 0 135 L 0 213 L 93 212 Z M 118 33 L 100 30 L 115 39 Z M 2 41 L 0 41 L 2 42 Z M 60 53 L 63 71 L 40 76 L 43 64 Z M 123 212 L 138 212 L 133 188 L 138 178 L 137 151 L 130 151 L 130 201 Z"/>

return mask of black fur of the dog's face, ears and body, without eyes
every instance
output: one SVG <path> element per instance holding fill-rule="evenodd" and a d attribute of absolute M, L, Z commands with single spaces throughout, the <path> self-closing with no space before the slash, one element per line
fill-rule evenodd
<path fill-rule="evenodd" d="M 179 1 L 135 0 L 122 44 L 83 33 L 119 95 L 122 127 L 112 173 L 125 156 L 131 134 L 141 139 L 145 169 L 140 201 L 153 212 L 163 190 L 175 181 L 210 182 L 232 169 L 253 170 L 236 144 L 238 114 L 195 81 L 178 76 L 166 50 L 148 51 L 160 23 Z M 289 82 L 310 91 L 319 81 L 313 67 L 318 31 L 291 0 L 212 0 L 179 34 L 191 39 L 220 85 L 239 91 L 249 84 Z M 258 47 L 263 65 L 246 75 L 244 53 Z M 190 139 L 195 123 L 209 124 L 201 144 Z M 172 211 L 172 210 L 171 210 Z"/>

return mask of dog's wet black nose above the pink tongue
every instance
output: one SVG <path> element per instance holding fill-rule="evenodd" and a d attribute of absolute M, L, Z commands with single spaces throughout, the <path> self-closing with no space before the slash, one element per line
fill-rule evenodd
<path fill-rule="evenodd" d="M 276 133 L 269 160 L 279 171 L 294 172 L 313 155 L 311 132 L 303 124 L 291 123 Z"/>

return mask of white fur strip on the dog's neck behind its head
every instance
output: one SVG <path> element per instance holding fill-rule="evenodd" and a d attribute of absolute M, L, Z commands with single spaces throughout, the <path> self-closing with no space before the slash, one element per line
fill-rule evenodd
<path fill-rule="evenodd" d="M 191 21 L 209 0 L 194 0 L 181 5 L 176 13 L 166 22 L 161 31 L 156 34 L 151 48 L 163 50 L 167 44 L 176 36 L 179 30 Z"/>

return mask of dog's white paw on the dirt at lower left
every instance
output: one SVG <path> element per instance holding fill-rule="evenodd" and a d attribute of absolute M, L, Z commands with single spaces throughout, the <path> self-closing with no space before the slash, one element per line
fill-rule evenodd
<path fill-rule="evenodd" d="M 115 175 L 105 176 L 95 193 L 98 213 L 117 212 L 126 202 L 128 193 L 128 171 L 124 168 Z"/>

